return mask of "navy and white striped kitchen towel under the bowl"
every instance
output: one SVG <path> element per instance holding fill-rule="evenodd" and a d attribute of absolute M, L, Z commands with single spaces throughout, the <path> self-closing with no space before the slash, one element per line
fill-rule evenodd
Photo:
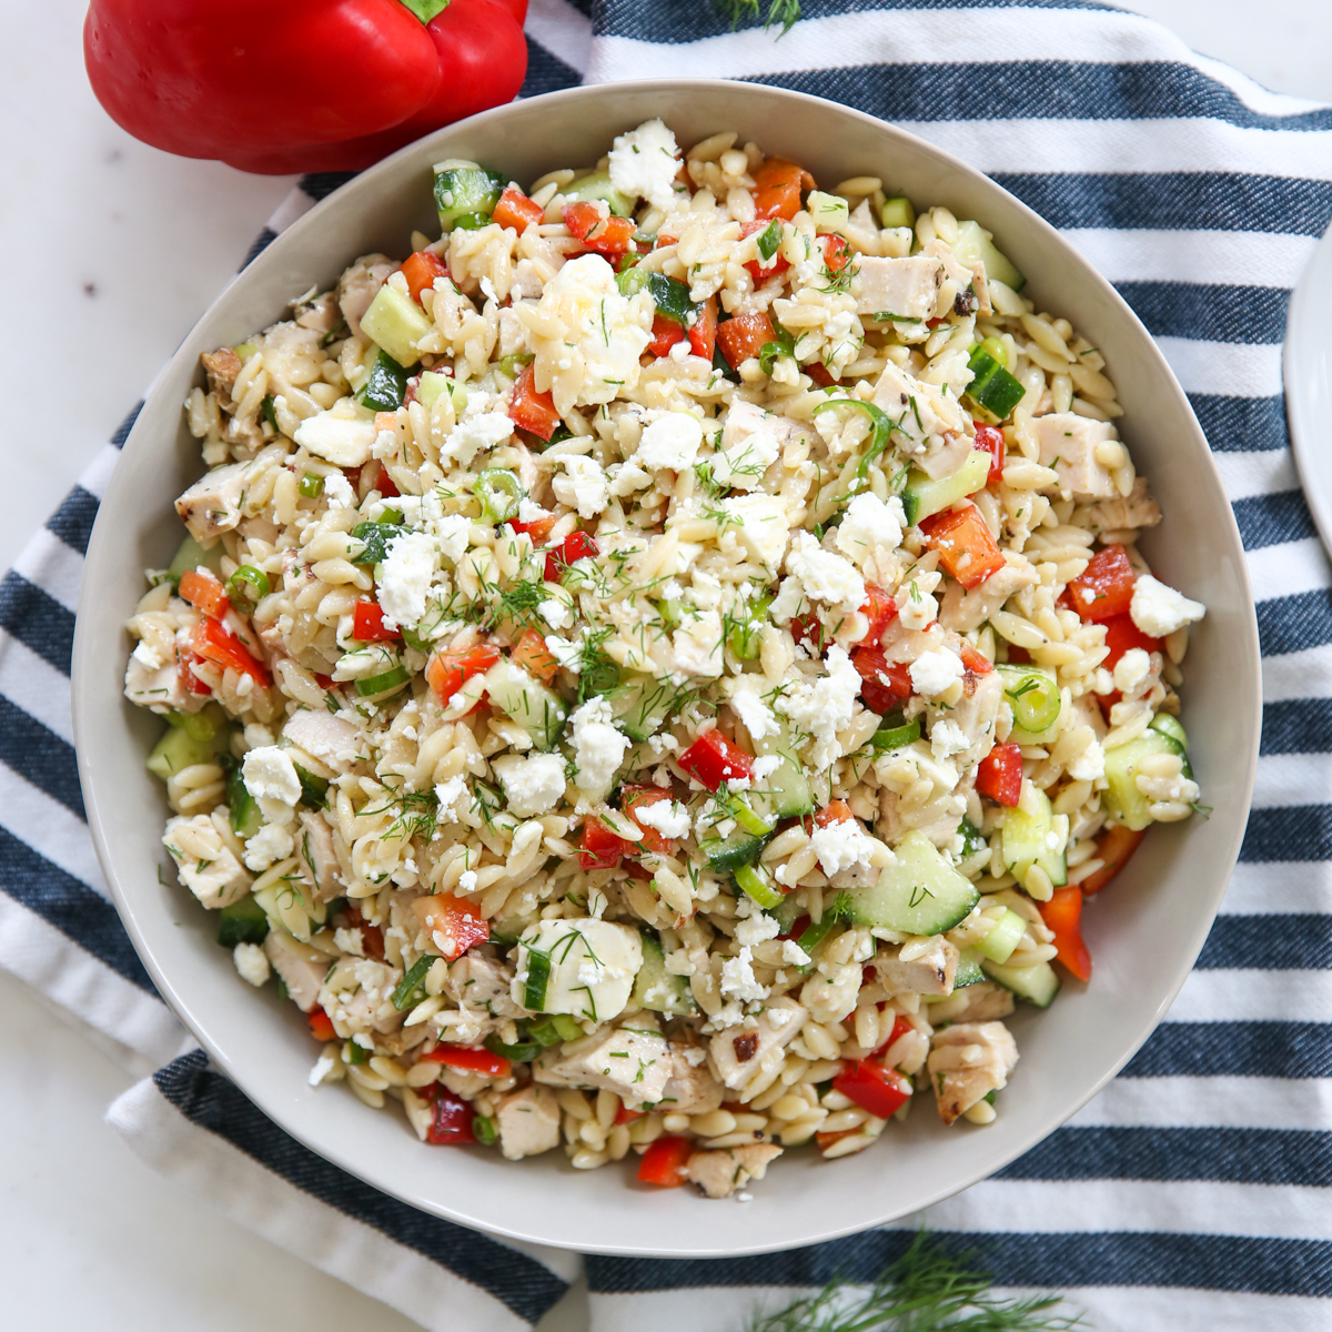
<path fill-rule="evenodd" d="M 526 95 L 715 75 L 904 125 L 1062 228 L 1159 340 L 1257 598 L 1263 749 L 1240 866 L 1196 971 L 1124 1072 L 923 1221 L 1004 1287 L 1070 1292 L 1102 1329 L 1332 1327 L 1332 578 L 1280 369 L 1291 288 L 1332 218 L 1332 109 L 1083 0 L 805 0 L 781 40 L 731 31 L 709 0 L 533 0 L 527 33 Z M 337 184 L 306 177 L 254 252 Z M 73 607 L 115 458 L 0 585 L 0 964 L 164 1063 L 111 1111 L 135 1148 L 432 1328 L 531 1323 L 582 1269 L 598 1332 L 723 1332 L 761 1299 L 832 1271 L 870 1276 L 900 1252 L 910 1228 L 734 1261 L 502 1244 L 313 1156 L 182 1046 L 108 902 L 71 743 Z"/>

